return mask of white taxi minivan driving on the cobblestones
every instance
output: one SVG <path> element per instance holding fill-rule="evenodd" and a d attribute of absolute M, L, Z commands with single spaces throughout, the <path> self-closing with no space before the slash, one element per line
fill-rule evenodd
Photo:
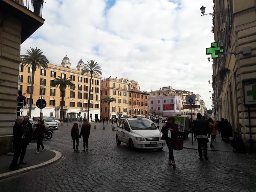
<path fill-rule="evenodd" d="M 119 119 L 116 128 L 116 144 L 121 142 L 129 145 L 131 150 L 136 148 L 157 148 L 162 150 L 165 140 L 153 121 L 147 118 Z"/>

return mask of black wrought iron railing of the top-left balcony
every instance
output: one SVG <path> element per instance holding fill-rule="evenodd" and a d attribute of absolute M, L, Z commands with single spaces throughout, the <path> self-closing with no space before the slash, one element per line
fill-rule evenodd
<path fill-rule="evenodd" d="M 44 0 L 13 0 L 21 6 L 42 17 Z"/>

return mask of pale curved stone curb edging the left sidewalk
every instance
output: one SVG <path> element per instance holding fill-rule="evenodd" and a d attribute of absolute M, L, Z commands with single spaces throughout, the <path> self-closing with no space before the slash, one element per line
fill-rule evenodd
<path fill-rule="evenodd" d="M 55 151 L 55 150 L 49 150 L 49 151 L 55 152 L 55 157 L 53 157 L 52 159 L 50 159 L 50 160 L 48 160 L 44 163 L 40 163 L 38 165 L 26 167 L 26 168 L 23 168 L 23 169 L 19 169 L 17 171 L 12 171 L 12 172 L 7 172 L 7 173 L 0 174 L 0 180 L 4 179 L 4 178 L 7 178 L 7 177 L 12 177 L 14 175 L 19 175 L 21 173 L 29 172 L 30 170 L 33 170 L 33 169 L 38 169 L 38 168 L 47 166 L 47 165 L 52 164 L 52 163 L 54 163 L 55 161 L 57 161 L 61 158 L 61 152 Z"/>

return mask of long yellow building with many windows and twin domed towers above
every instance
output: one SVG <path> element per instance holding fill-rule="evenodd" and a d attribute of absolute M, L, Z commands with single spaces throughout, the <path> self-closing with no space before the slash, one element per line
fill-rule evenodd
<path fill-rule="evenodd" d="M 43 96 L 47 102 L 47 106 L 42 109 L 42 116 L 60 117 L 61 92 L 59 87 L 52 87 L 51 82 L 55 78 L 70 77 L 71 81 L 76 87 L 67 87 L 64 97 L 64 117 L 77 117 L 81 115 L 86 116 L 88 113 L 88 97 L 90 87 L 90 74 L 81 76 L 81 69 L 84 67 L 84 62 L 80 60 L 76 68 L 71 67 L 70 59 L 67 55 L 63 58 L 61 65 L 48 64 L 48 69 L 38 69 L 35 71 L 33 106 L 31 116 L 40 116 L 40 109 L 36 107 L 35 103 Z M 92 88 L 90 95 L 90 119 L 93 120 L 99 117 L 99 93 L 101 77 L 93 75 Z M 32 68 L 21 66 L 19 72 L 18 89 L 26 96 L 26 106 L 24 107 L 24 115 L 29 112 L 29 100 L 32 81 Z M 71 114 L 73 113 L 73 114 Z M 77 113 L 77 114 L 76 114 Z M 70 116 L 68 116 L 70 114 Z"/>

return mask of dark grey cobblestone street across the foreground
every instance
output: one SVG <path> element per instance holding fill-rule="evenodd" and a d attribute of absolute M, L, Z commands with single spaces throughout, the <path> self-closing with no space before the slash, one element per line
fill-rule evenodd
<path fill-rule="evenodd" d="M 172 169 L 167 146 L 163 151 L 130 151 L 128 145 L 116 145 L 116 131 L 106 123 L 105 130 L 102 123 L 92 123 L 89 151 L 82 151 L 79 139 L 80 151 L 73 152 L 71 126 L 64 124 L 44 141 L 46 148 L 62 153 L 61 160 L 0 180 L 0 191 L 256 191 L 253 154 L 208 151 L 209 160 L 200 161 L 197 150 L 184 148 L 174 151 Z"/>

